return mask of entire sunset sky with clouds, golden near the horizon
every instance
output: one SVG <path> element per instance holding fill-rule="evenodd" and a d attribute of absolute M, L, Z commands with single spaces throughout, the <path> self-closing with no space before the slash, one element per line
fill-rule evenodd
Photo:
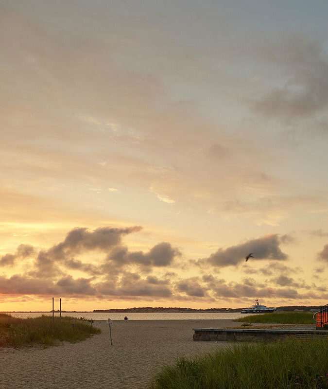
<path fill-rule="evenodd" d="M 328 303 L 327 16 L 0 0 L 0 311 Z"/>

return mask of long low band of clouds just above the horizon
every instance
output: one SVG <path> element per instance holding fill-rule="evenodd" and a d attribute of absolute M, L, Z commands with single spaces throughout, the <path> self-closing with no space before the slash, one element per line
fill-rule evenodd
<path fill-rule="evenodd" d="M 106 281 L 97 278 L 77 278 L 70 275 L 60 276 L 57 281 L 36 279 L 29 276 L 14 275 L 10 278 L 0 277 L 0 293 L 3 295 L 35 295 L 70 296 L 86 299 L 108 299 L 108 297 L 131 300 L 135 298 L 168 299 L 175 301 L 216 301 L 222 300 L 239 302 L 254 298 L 275 299 L 322 299 L 322 295 L 309 296 L 308 285 L 300 285 L 306 289 L 305 294 L 299 293 L 293 286 L 288 285 L 291 280 L 281 277 L 271 280 L 282 287 L 272 287 L 268 283 L 259 283 L 252 278 L 241 281 L 226 282 L 216 279 L 212 275 L 178 279 L 174 276 L 167 278 L 155 275 L 142 278 L 138 273 L 121 271 L 119 276 Z M 320 292 L 324 287 L 318 287 Z"/>

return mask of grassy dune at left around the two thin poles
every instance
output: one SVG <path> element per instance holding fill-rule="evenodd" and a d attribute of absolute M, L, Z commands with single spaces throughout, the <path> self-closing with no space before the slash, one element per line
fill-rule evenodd
<path fill-rule="evenodd" d="M 60 325 L 58 317 L 52 323 L 51 316 L 21 319 L 0 314 L 0 347 L 50 346 L 58 341 L 74 343 L 100 332 L 86 320 L 71 317 L 63 317 Z"/>

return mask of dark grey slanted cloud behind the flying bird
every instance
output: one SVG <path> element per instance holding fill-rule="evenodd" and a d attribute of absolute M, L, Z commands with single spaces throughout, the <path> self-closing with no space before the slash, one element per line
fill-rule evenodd
<path fill-rule="evenodd" d="M 285 238 L 284 238 L 285 240 Z M 279 248 L 281 239 L 279 235 L 266 235 L 258 239 L 252 239 L 240 245 L 229 248 L 219 248 L 215 253 L 206 258 L 205 262 L 213 266 L 238 265 L 245 261 L 245 256 L 250 252 L 254 253 L 254 258 L 249 261 L 258 261 L 262 259 L 286 260 L 287 254 Z"/>

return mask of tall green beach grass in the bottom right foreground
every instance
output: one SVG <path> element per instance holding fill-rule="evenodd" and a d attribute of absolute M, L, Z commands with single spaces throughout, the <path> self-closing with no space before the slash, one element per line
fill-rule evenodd
<path fill-rule="evenodd" d="M 180 358 L 149 389 L 327 389 L 328 340 L 243 343 Z"/>

